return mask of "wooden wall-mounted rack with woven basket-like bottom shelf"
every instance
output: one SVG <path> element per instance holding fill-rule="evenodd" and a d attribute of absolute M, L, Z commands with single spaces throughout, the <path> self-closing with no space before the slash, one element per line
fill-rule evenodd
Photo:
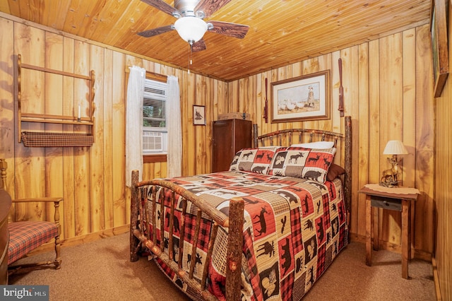
<path fill-rule="evenodd" d="M 46 147 L 46 146 L 92 146 L 94 143 L 95 130 L 95 73 L 90 71 L 89 76 L 83 76 L 76 73 L 64 72 L 49 68 L 42 68 L 39 66 L 32 66 L 29 64 L 22 64 L 21 56 L 17 56 L 17 83 L 18 93 L 16 100 L 18 102 L 18 141 L 23 142 L 24 146 L 31 147 Z M 69 76 L 72 78 L 81 78 L 88 81 L 88 117 L 81 117 L 80 107 L 78 107 L 78 116 L 61 116 L 54 114 L 39 114 L 31 112 L 23 112 L 22 110 L 22 86 L 21 74 L 22 69 L 30 69 L 45 73 L 54 73 L 61 76 Z M 73 124 L 76 126 L 88 126 L 88 133 L 50 133 L 38 131 L 22 131 L 22 122 L 40 122 L 45 124 Z"/>

